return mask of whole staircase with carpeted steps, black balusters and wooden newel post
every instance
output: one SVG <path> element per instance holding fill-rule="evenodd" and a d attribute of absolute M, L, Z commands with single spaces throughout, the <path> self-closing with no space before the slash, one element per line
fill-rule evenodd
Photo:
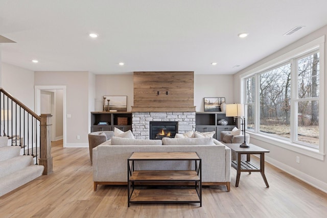
<path fill-rule="evenodd" d="M 0 88 L 0 196 L 52 173 L 51 114 L 37 115 Z"/>

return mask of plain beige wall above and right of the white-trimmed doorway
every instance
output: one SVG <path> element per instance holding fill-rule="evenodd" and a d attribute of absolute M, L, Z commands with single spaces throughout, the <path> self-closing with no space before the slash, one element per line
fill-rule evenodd
<path fill-rule="evenodd" d="M 66 119 L 66 147 L 88 147 L 88 80 L 87 71 L 37 71 L 34 75 L 35 85 L 66 86 L 66 114 L 71 114 Z"/>

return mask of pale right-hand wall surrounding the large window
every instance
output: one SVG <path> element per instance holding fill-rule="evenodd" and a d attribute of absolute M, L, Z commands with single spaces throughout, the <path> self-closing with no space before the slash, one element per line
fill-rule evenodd
<path fill-rule="evenodd" d="M 254 63 L 253 65 L 243 69 L 242 71 L 238 72 L 238 74 L 234 75 L 234 87 L 235 89 L 235 99 L 240 99 L 240 90 L 238 87 L 240 86 L 240 75 L 246 74 L 247 71 L 252 70 L 268 61 L 273 60 L 276 57 L 279 57 L 287 52 L 290 52 L 297 47 L 306 44 L 318 37 L 324 36 L 327 34 L 327 26 L 309 34 L 306 37 L 296 41 L 295 43 L 286 46 L 284 49 L 264 58 L 263 60 Z M 320 60 L 320 64 L 324 64 L 325 70 L 327 67 L 327 45 L 325 43 L 325 58 L 324 60 Z M 320 72 L 320 75 L 324 74 L 325 72 Z M 327 87 L 327 77 L 324 78 L 325 87 Z M 237 90 L 238 89 L 238 90 Z M 327 88 L 324 89 L 324 96 L 327 96 Z M 324 117 L 327 117 L 327 101 L 324 102 L 325 111 L 320 111 L 319 113 L 324 113 Z M 327 150 L 327 140 L 326 140 L 326 133 L 327 133 L 327 121 L 326 120 L 319 120 L 319 124 L 324 126 L 324 134 L 320 135 L 319 137 L 323 137 L 323 144 L 319 144 L 319 146 L 324 147 L 324 151 Z M 284 171 L 294 175 L 295 177 L 306 181 L 309 184 L 327 192 L 327 161 L 324 157 L 324 160 L 318 160 L 316 158 L 303 155 L 298 152 L 294 152 L 282 147 L 276 146 L 274 143 L 269 143 L 263 137 L 258 137 L 251 135 L 251 143 L 254 143 L 258 146 L 266 148 L 270 150 L 270 153 L 266 155 L 266 160 L 275 166 L 283 169 Z M 296 156 L 300 157 L 300 163 L 296 163 Z M 269 178 L 268 178 L 269 181 Z"/>

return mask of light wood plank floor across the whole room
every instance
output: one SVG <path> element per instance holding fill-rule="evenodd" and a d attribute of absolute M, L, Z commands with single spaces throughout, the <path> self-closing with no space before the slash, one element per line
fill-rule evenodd
<path fill-rule="evenodd" d="M 242 173 L 231 190 L 204 187 L 199 204 L 131 204 L 127 187 L 100 185 L 93 191 L 88 148 L 53 142 L 53 170 L 0 197 L 0 217 L 326 217 L 327 194 L 266 163 L 260 173 Z M 254 158 L 253 158 L 254 159 Z M 110 167 L 110 166 L 108 166 Z"/>

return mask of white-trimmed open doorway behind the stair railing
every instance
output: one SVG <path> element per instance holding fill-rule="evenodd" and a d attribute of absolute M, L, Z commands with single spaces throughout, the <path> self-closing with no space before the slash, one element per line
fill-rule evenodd
<path fill-rule="evenodd" d="M 51 141 L 63 141 L 66 147 L 66 86 L 35 86 L 37 114 L 52 114 Z"/>

